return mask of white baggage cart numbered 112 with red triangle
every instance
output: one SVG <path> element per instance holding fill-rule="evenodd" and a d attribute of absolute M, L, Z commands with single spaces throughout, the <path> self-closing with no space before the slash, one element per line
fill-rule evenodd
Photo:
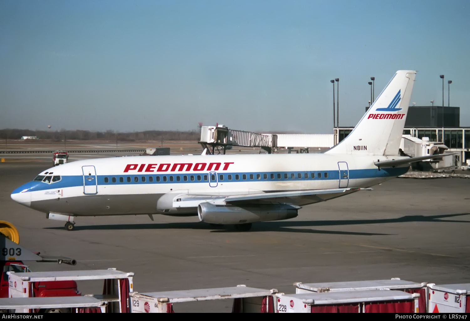
<path fill-rule="evenodd" d="M 428 284 L 429 313 L 470 313 L 470 283 Z"/>

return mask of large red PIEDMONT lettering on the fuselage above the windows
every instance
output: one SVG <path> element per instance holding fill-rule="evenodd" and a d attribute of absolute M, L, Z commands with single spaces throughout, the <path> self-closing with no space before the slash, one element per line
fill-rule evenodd
<path fill-rule="evenodd" d="M 124 169 L 124 173 L 128 173 L 129 171 L 137 170 L 138 173 L 140 172 L 182 172 L 183 169 L 186 172 L 191 171 L 217 171 L 217 170 L 228 170 L 228 167 L 233 164 L 233 162 L 224 162 L 222 167 L 222 163 L 196 163 L 193 166 L 193 163 L 162 163 L 162 164 L 127 164 Z M 157 167 L 158 165 L 158 167 Z M 222 169 L 220 169 L 222 167 Z M 145 169 L 145 170 L 144 170 Z"/>

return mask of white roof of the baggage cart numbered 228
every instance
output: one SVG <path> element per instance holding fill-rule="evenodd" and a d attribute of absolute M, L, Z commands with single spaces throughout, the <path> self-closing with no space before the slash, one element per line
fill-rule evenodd
<path fill-rule="evenodd" d="M 363 290 L 344 292 L 311 292 L 288 294 L 283 297 L 297 298 L 308 305 L 326 305 L 342 303 L 360 303 L 376 301 L 412 300 L 419 297 L 418 293 L 406 293 L 397 290 Z"/>

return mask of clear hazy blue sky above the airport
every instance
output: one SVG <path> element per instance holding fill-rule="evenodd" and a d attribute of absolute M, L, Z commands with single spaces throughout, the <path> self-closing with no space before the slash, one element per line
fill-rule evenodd
<path fill-rule="evenodd" d="M 468 1 L 0 1 L 0 128 L 332 132 L 399 69 L 470 126 Z M 445 90 L 447 106 L 447 84 Z"/>

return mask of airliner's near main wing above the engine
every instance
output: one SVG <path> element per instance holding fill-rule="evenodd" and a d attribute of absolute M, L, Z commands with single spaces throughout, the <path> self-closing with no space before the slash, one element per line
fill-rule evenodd
<path fill-rule="evenodd" d="M 289 203 L 298 206 L 323 202 L 325 199 L 353 191 L 372 191 L 371 188 L 336 188 L 325 190 L 282 191 L 240 195 L 178 195 L 173 199 L 173 207 L 197 207 L 200 203 L 209 202 L 214 205 L 254 204 L 254 203 Z"/>

